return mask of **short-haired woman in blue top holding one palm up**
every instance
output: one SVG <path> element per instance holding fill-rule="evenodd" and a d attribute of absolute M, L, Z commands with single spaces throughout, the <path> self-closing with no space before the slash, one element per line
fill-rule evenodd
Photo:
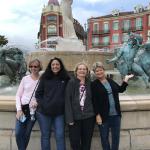
<path fill-rule="evenodd" d="M 110 78 L 106 78 L 105 69 L 101 62 L 93 65 L 97 77 L 92 82 L 92 96 L 96 122 L 99 126 L 103 150 L 118 150 L 120 139 L 121 111 L 119 93 L 126 90 L 127 82 L 133 75 L 126 75 L 121 86 Z M 109 129 L 111 129 L 112 144 L 109 143 Z"/>

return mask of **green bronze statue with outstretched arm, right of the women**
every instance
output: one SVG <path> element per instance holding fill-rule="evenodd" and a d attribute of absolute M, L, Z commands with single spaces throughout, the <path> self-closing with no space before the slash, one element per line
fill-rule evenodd
<path fill-rule="evenodd" d="M 122 77 L 134 74 L 141 77 L 149 88 L 150 81 L 150 43 L 143 44 L 143 38 L 135 33 L 129 34 L 127 43 L 118 48 L 115 56 L 107 63 L 115 63 Z"/>

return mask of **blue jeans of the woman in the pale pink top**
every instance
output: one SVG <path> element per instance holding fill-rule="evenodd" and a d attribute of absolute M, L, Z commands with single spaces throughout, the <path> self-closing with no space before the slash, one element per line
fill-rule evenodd
<path fill-rule="evenodd" d="M 34 124 L 35 121 L 31 121 L 30 119 L 24 123 L 16 120 L 15 136 L 18 150 L 26 150 Z"/>

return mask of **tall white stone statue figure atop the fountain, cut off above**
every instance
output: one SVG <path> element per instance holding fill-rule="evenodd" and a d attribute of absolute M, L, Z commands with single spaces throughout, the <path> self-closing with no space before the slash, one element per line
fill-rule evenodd
<path fill-rule="evenodd" d="M 62 0 L 61 9 L 63 16 L 63 37 L 64 38 L 75 38 L 77 39 L 72 17 L 71 5 L 73 0 Z"/>

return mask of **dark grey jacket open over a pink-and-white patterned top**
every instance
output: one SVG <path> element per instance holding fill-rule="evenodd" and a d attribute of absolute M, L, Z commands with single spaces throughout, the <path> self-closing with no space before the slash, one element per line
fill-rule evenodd
<path fill-rule="evenodd" d="M 91 82 L 89 80 L 86 80 L 85 82 L 86 99 L 83 111 L 81 111 L 79 103 L 79 87 L 80 80 L 77 78 L 71 79 L 67 84 L 65 94 L 66 123 L 71 123 L 75 120 L 82 120 L 94 116 L 91 95 Z"/>

